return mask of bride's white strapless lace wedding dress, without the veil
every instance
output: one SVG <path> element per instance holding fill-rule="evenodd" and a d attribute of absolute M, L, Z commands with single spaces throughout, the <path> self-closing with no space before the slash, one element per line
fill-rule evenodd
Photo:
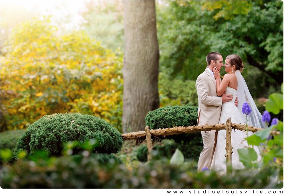
<path fill-rule="evenodd" d="M 234 103 L 235 102 L 234 100 L 237 95 L 236 90 L 227 86 L 226 94 L 232 94 L 233 100 L 222 104 L 222 112 L 219 123 L 226 123 L 227 119 L 231 118 L 232 123 L 246 124 L 245 122 L 243 122 L 241 113 Z M 246 140 L 244 140 L 244 138 L 252 134 L 253 132 L 251 131 L 248 131 L 248 133 L 246 133 L 246 131 L 232 130 L 232 147 L 233 147 L 232 166 L 234 169 L 244 168 L 244 165 L 239 161 L 239 155 L 237 150 L 239 148 L 249 146 Z M 225 138 L 226 138 L 226 130 L 218 131 L 216 148 L 212 159 L 212 164 L 210 167 L 211 170 L 218 171 L 220 174 L 226 174 L 226 157 L 225 157 L 226 139 Z M 257 148 L 257 146 L 254 146 L 254 150 L 258 155 L 258 159 L 260 159 L 259 149 Z"/>

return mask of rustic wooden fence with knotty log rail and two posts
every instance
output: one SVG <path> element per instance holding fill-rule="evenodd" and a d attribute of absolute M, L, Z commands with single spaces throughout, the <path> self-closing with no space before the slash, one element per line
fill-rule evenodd
<path fill-rule="evenodd" d="M 216 125 L 199 125 L 199 126 L 189 126 L 189 127 L 173 127 L 173 128 L 165 128 L 165 129 L 149 129 L 149 126 L 146 126 L 145 131 L 137 131 L 130 133 L 123 133 L 123 140 L 136 140 L 136 144 L 141 143 L 146 139 L 147 148 L 148 148 L 148 160 L 151 160 L 151 151 L 154 148 L 154 144 L 156 138 L 164 137 L 167 135 L 176 135 L 183 133 L 195 133 L 200 131 L 211 131 L 211 130 L 226 130 L 226 163 L 227 167 L 232 164 L 232 140 L 231 134 L 233 129 L 238 130 L 248 130 L 252 132 L 257 132 L 263 130 L 262 128 L 256 128 L 253 126 L 247 126 L 242 124 L 236 124 L 231 122 L 231 118 L 228 118 L 226 124 L 216 124 Z M 279 134 L 277 131 L 271 131 L 271 134 Z"/>

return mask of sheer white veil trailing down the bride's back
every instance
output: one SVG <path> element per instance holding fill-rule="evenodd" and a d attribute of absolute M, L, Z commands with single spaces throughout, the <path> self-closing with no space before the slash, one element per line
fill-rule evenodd
<path fill-rule="evenodd" d="M 262 115 L 257 109 L 254 99 L 251 97 L 249 92 L 249 88 L 246 85 L 246 81 L 243 78 L 241 72 L 239 70 L 235 71 L 235 75 L 237 76 L 238 80 L 238 87 L 237 87 L 237 97 L 239 100 L 238 110 L 240 111 L 243 122 L 246 122 L 246 115 L 242 112 L 243 103 L 247 102 L 251 107 L 251 114 L 248 116 L 248 125 L 257 127 L 257 128 L 265 128 L 267 127 L 265 124 L 262 123 Z"/>

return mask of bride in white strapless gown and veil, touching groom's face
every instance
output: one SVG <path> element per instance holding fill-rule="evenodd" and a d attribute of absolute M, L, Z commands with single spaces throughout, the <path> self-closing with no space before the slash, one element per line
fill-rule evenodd
<path fill-rule="evenodd" d="M 217 68 L 213 68 L 214 77 L 216 79 L 216 91 L 217 95 L 221 96 L 223 93 L 225 94 L 233 94 L 233 100 L 238 94 L 239 106 L 238 108 L 235 106 L 234 101 L 225 102 L 222 104 L 222 112 L 219 123 L 226 123 L 228 118 L 231 118 L 233 123 L 241 123 L 248 124 L 254 127 L 264 128 L 262 124 L 261 114 L 258 111 L 254 100 L 249 93 L 249 89 L 246 85 L 245 80 L 243 79 L 241 72 L 243 71 L 243 60 L 238 55 L 229 55 L 225 60 L 225 74 L 222 82 L 220 82 L 220 73 Z M 251 114 L 246 118 L 245 115 L 242 114 L 241 107 L 244 102 L 248 102 L 251 107 Z M 237 149 L 243 148 L 245 146 L 249 146 L 244 138 L 252 135 L 251 131 L 240 131 L 235 130 L 232 131 L 232 166 L 234 169 L 243 169 L 244 165 L 239 161 L 238 151 Z M 226 173 L 226 130 L 218 131 L 217 143 L 215 152 L 212 159 L 211 169 L 220 172 L 220 174 Z M 257 146 L 254 146 L 254 150 L 259 156 L 259 149 Z"/>

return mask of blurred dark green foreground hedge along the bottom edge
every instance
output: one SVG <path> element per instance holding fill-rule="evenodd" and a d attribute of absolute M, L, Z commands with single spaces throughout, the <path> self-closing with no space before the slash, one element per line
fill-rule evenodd
<path fill-rule="evenodd" d="M 100 164 L 94 157 L 62 156 L 36 161 L 19 160 L 1 167 L 1 188 L 273 188 L 269 177 L 275 167 L 260 168 L 252 174 L 233 171 L 232 176 L 196 172 L 196 164 L 172 166 L 162 161 L 128 169 L 109 161 Z M 278 171 L 279 172 L 279 171 Z"/>

